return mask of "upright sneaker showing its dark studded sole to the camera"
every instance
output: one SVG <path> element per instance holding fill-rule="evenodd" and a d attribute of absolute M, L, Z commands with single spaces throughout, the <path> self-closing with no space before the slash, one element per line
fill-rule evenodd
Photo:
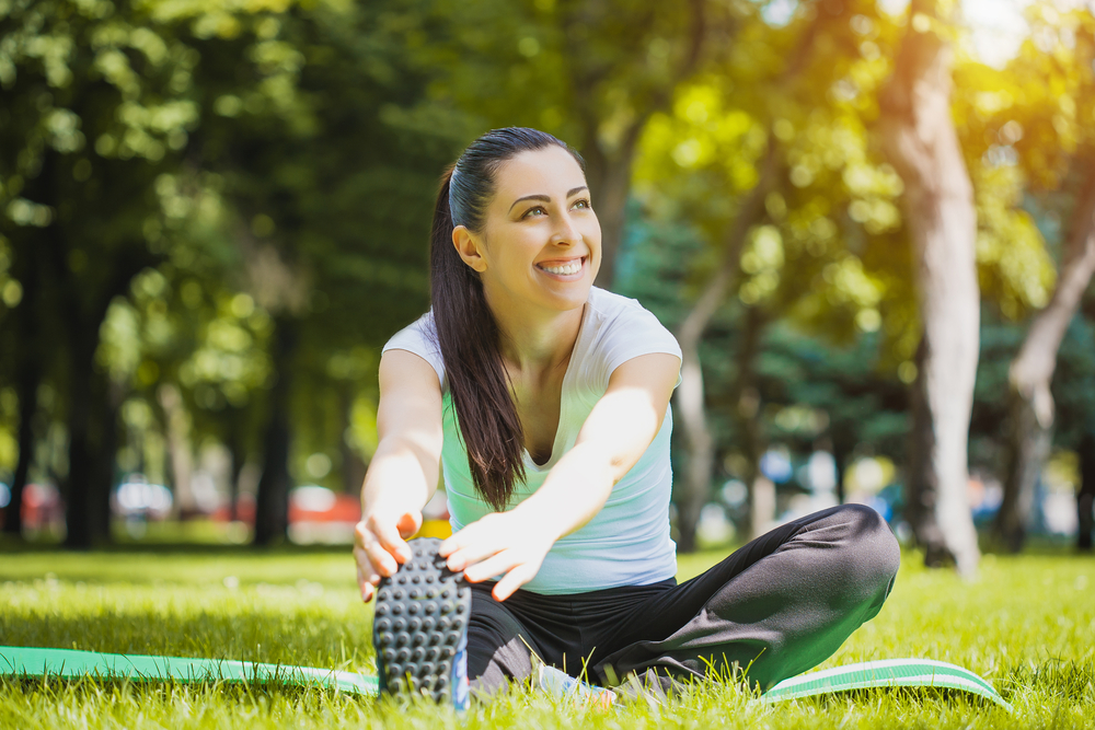
<path fill-rule="evenodd" d="M 468 618 L 472 590 L 445 567 L 441 541 L 412 540 L 413 557 L 377 591 L 372 646 L 380 692 L 426 696 L 466 709 Z"/>

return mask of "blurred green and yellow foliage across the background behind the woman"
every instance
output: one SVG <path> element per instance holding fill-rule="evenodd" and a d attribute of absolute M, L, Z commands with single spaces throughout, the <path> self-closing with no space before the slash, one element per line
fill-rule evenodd
<path fill-rule="evenodd" d="M 377 438 L 379 346 L 428 306 L 437 176 L 485 127 L 511 124 L 581 148 L 595 202 L 606 176 L 630 175 L 615 288 L 670 327 L 719 265 L 774 151 L 763 211 L 701 347 L 719 452 L 740 442 L 731 401 L 754 312 L 766 438 L 807 449 L 841 433 L 848 449 L 900 461 L 915 271 L 901 182 L 868 140 L 906 21 L 872 0 L 800 2 L 781 24 L 771 11 L 0 3 L 0 470 L 15 466 L 27 370 L 46 396 L 34 478 L 65 475 L 73 396 L 88 393 L 99 424 L 119 414 L 119 466 L 166 478 L 161 386 L 182 393 L 193 448 L 231 443 L 256 461 L 270 389 L 291 375 L 295 480 L 353 488 Z M 1005 69 L 959 43 L 954 72 L 987 304 L 973 422 L 986 462 L 1006 360 L 1052 290 L 1070 189 L 1095 159 L 1095 21 L 1051 2 L 1028 15 L 1033 34 Z M 1087 309 L 1054 382 L 1061 445 L 1090 428 L 1095 403 Z M 285 362 L 279 324 L 297 333 Z"/>

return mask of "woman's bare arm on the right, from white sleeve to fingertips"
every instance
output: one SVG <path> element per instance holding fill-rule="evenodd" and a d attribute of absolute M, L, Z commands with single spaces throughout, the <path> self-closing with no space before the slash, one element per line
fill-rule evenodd
<path fill-rule="evenodd" d="M 506 573 L 494 587 L 504 601 L 532 580 L 556 540 L 593 519 L 661 428 L 681 361 L 643 355 L 618 367 L 583 424 L 574 448 L 534 495 L 508 512 L 473 522 L 441 544 L 450 570 L 471 581 Z"/>

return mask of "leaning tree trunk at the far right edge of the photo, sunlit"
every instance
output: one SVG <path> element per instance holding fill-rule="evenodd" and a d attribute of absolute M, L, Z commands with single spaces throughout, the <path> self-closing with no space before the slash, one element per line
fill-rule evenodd
<path fill-rule="evenodd" d="M 1034 513 L 1035 485 L 1052 441 L 1054 407 L 1049 387 L 1057 369 L 1057 352 L 1093 273 L 1095 172 L 1087 174 L 1076 199 L 1053 296 L 1046 309 L 1035 316 L 1023 347 L 1007 372 L 1011 417 L 1008 468 L 995 530 L 1013 552 L 1019 551 L 1026 538 Z"/>

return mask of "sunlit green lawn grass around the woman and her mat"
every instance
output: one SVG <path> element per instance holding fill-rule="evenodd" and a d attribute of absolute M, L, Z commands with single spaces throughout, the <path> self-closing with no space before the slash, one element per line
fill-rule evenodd
<path fill-rule="evenodd" d="M 684 556 L 681 578 L 722 554 Z M 0 552 L 0 644 L 373 670 L 371 611 L 345 552 Z M 892 595 L 822 667 L 898 657 L 981 674 L 1014 715 L 964 695 L 868 692 L 751 705 L 733 685 L 668 706 L 574 707 L 517 688 L 464 717 L 320 690 L 0 681 L 2 728 L 1091 728 L 1095 558 L 989 555 L 980 579 L 903 556 Z"/>

